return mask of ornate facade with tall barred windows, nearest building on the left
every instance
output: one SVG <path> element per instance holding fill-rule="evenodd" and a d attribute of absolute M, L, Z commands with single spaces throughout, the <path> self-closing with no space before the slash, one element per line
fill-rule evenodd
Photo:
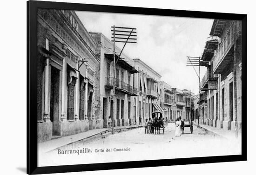
<path fill-rule="evenodd" d="M 38 141 L 93 129 L 100 85 L 96 43 L 74 11 L 39 9 L 37 22 Z"/>

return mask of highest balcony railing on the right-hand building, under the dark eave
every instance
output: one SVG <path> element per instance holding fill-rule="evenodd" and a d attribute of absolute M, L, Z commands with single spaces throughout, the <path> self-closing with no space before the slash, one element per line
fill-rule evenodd
<path fill-rule="evenodd" d="M 240 35 L 241 33 L 241 22 L 240 21 L 234 21 L 227 31 L 227 34 L 221 38 L 221 43 L 219 44 L 219 47 L 216 49 L 216 54 L 213 57 L 213 72 L 217 69 L 220 62 L 222 62 L 224 56 L 227 54 L 227 52 L 230 50 L 230 48 L 234 44 L 234 32 L 236 27 L 236 36 Z"/>

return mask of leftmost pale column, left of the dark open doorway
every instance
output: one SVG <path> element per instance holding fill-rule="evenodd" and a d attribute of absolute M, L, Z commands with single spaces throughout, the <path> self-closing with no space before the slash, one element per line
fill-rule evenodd
<path fill-rule="evenodd" d="M 48 94 L 49 94 L 49 58 L 46 59 L 45 65 L 45 98 L 44 98 L 44 121 L 49 122 L 50 116 L 48 111 Z"/>

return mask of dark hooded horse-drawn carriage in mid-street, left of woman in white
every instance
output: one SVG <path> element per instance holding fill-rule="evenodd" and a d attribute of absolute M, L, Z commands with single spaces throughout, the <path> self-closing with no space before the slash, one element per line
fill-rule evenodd
<path fill-rule="evenodd" d="M 162 116 L 162 112 L 153 112 L 152 113 L 152 131 L 153 133 L 157 133 L 157 134 L 160 134 L 160 130 L 162 130 L 162 133 L 164 134 L 164 125 L 165 125 L 165 121 L 163 119 L 163 116 Z"/>

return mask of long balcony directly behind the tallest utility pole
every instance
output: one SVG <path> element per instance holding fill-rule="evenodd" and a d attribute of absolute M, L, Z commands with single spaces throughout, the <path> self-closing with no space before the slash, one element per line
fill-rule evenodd
<path fill-rule="evenodd" d="M 105 77 L 105 88 L 113 89 L 114 85 L 114 77 Z M 133 88 L 131 85 L 120 81 L 115 78 L 115 89 L 125 94 L 129 94 L 131 96 L 137 96 L 138 91 L 137 88 Z"/>

